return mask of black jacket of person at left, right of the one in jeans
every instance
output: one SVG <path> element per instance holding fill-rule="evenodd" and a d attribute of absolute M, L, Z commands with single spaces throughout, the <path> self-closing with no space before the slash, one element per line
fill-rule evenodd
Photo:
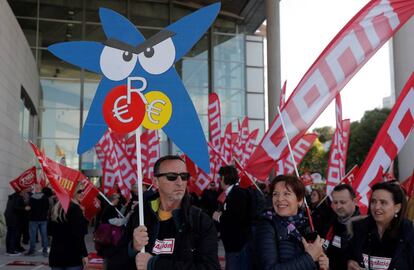
<path fill-rule="evenodd" d="M 88 256 L 85 245 L 85 219 L 79 205 L 71 202 L 66 221 L 49 223 L 52 236 L 49 266 L 69 267 L 82 265 L 82 258 Z"/>

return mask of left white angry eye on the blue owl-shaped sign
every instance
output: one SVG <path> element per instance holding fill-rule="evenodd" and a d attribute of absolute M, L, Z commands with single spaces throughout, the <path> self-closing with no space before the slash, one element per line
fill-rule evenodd
<path fill-rule="evenodd" d="M 132 52 L 105 46 L 101 53 L 101 70 L 108 79 L 120 81 L 131 74 L 137 59 L 138 56 Z"/>

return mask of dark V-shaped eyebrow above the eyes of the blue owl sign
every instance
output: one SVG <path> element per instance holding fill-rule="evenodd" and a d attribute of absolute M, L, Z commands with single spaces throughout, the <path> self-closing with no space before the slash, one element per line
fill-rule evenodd
<path fill-rule="evenodd" d="M 149 39 L 145 40 L 143 43 L 139 44 L 137 47 L 131 46 L 125 42 L 122 42 L 114 38 L 110 38 L 102 43 L 105 46 L 109 46 L 115 49 L 119 49 L 122 51 L 128 51 L 128 52 L 132 52 L 135 54 L 140 54 L 143 51 L 145 51 L 145 49 L 154 47 L 155 45 L 163 42 L 167 38 L 170 38 L 174 35 L 175 35 L 174 32 L 163 29 L 160 32 L 153 35 L 152 37 L 150 37 Z"/>

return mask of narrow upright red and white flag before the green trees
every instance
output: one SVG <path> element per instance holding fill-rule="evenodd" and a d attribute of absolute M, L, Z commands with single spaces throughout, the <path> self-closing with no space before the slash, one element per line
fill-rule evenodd
<path fill-rule="evenodd" d="M 329 151 L 328 168 L 326 170 L 327 194 L 331 194 L 333 188 L 341 182 L 345 175 L 351 122 L 349 119 L 345 119 L 340 127 L 342 127 L 342 131 L 338 128 L 335 130 Z"/>

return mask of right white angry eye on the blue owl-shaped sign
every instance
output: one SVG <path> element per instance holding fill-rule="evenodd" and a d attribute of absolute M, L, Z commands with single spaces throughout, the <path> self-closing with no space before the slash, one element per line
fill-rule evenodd
<path fill-rule="evenodd" d="M 171 38 L 158 43 L 153 47 L 146 48 L 138 55 L 142 68 L 154 75 L 166 72 L 175 60 L 175 47 Z"/>

